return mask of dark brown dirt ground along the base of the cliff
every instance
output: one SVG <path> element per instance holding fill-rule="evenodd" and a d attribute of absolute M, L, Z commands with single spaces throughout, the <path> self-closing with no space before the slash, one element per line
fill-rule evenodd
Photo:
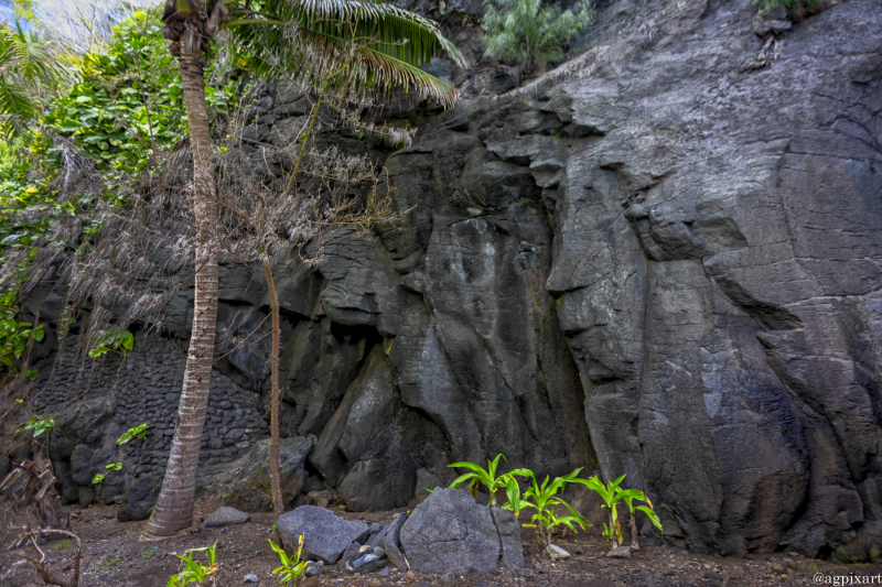
<path fill-rule="evenodd" d="M 209 515 L 217 503 L 201 501 L 197 520 Z M 209 546 L 217 542 L 219 572 L 217 585 L 243 585 L 247 574 L 257 575 L 260 585 L 278 585 L 272 569 L 278 556 L 267 539 L 271 534 L 272 514 L 254 514 L 251 522 L 226 529 L 201 530 L 192 534 L 160 542 L 139 542 L 144 522 L 120 523 L 116 509 L 69 508 L 72 531 L 83 540 L 80 587 L 165 587 L 169 577 L 181 568 L 175 554 L 187 548 Z M 346 513 L 346 518 L 387 523 L 394 512 Z M 555 543 L 572 554 L 564 562 L 551 563 L 538 556 L 533 531 L 521 534 L 526 568 L 517 575 L 501 568 L 481 576 L 452 577 L 405 574 L 388 569 L 381 574 L 353 575 L 338 565 L 325 567 L 321 577 L 304 580 L 302 587 L 411 587 L 458 585 L 493 586 L 562 586 L 562 587 L 674 587 L 674 586 L 762 586 L 762 585 L 848 585 L 882 583 L 882 565 L 841 565 L 806 559 L 796 554 L 776 553 L 753 558 L 722 558 L 691 554 L 671 546 L 644 546 L 627 561 L 603 558 L 605 541 L 594 531 L 558 537 Z M 9 540 L 0 555 L 0 587 L 31 587 L 34 573 L 7 552 Z M 43 548 L 49 565 L 71 576 L 75 548 L 62 541 L 49 541 Z M 32 547 L 22 548 L 33 555 Z M 786 561 L 785 561 L 786 559 Z M 796 569 L 787 569 L 792 564 Z M 383 574 L 387 574 L 383 576 Z M 854 577 L 854 578 L 851 578 Z M 820 579 L 820 580 L 818 580 Z M 850 583 L 847 583 L 850 581 Z"/>

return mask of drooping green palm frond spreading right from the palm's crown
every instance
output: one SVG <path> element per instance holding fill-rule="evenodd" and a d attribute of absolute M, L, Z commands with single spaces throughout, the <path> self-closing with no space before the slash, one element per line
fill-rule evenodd
<path fill-rule="evenodd" d="M 236 10 L 227 25 L 249 67 L 361 98 L 400 87 L 452 106 L 458 93 L 420 69 L 439 51 L 462 55 L 438 25 L 388 4 L 349 0 L 268 0 Z M 284 23 L 284 24 L 280 24 Z"/>

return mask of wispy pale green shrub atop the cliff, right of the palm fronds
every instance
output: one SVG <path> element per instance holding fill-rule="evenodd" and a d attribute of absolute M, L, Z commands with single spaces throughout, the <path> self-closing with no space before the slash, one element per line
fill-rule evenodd
<path fill-rule="evenodd" d="M 589 0 L 566 11 L 558 4 L 542 7 L 542 0 L 485 0 L 484 6 L 484 54 L 528 73 L 561 61 L 563 46 L 594 19 Z"/>

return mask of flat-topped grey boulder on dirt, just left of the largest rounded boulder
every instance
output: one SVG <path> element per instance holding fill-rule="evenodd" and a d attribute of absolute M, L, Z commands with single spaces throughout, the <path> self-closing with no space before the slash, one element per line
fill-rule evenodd
<path fill-rule="evenodd" d="M 303 534 L 302 556 L 310 561 L 323 561 L 329 565 L 336 563 L 346 546 L 370 530 L 364 522 L 345 520 L 315 506 L 301 506 L 281 514 L 277 525 L 286 550 L 295 551 L 298 540 Z"/>

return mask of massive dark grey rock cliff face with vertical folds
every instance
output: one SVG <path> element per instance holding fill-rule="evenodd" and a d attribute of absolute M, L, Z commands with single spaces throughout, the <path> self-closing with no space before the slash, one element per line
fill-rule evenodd
<path fill-rule="evenodd" d="M 882 1 L 754 17 L 601 1 L 566 73 L 388 155 L 401 222 L 278 268 L 284 428 L 351 508 L 504 453 L 626 472 L 698 551 L 880 556 Z M 302 111 L 267 98 L 271 142 Z M 222 297 L 265 315 L 259 272 Z M 252 349 L 218 365 L 250 389 Z"/>

